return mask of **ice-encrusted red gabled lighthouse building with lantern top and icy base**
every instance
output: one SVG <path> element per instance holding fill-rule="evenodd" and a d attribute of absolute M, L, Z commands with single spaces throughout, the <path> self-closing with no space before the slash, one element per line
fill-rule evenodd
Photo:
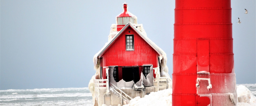
<path fill-rule="evenodd" d="M 94 55 L 96 74 L 89 83 L 94 105 L 122 105 L 172 86 L 165 52 L 147 37 L 127 3 L 123 9 L 111 25 L 108 42 Z"/>

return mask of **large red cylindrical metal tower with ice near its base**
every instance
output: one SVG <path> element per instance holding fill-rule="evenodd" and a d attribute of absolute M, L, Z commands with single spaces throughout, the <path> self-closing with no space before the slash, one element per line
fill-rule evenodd
<path fill-rule="evenodd" d="M 233 106 L 236 77 L 230 0 L 176 0 L 173 106 Z"/>

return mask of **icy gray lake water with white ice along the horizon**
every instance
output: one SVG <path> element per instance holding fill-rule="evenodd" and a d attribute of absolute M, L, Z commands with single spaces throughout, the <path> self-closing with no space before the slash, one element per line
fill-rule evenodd
<path fill-rule="evenodd" d="M 240 84 L 237 84 L 240 85 Z M 256 84 L 242 84 L 256 96 Z M 91 106 L 88 88 L 0 90 L 1 106 Z"/>

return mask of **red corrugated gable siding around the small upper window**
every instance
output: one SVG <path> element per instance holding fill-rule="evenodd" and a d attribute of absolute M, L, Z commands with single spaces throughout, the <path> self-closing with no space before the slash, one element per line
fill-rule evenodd
<path fill-rule="evenodd" d="M 125 35 L 134 35 L 134 51 L 126 51 Z M 153 65 L 156 68 L 158 64 L 158 53 L 131 27 L 126 28 L 101 57 L 103 67 Z"/>

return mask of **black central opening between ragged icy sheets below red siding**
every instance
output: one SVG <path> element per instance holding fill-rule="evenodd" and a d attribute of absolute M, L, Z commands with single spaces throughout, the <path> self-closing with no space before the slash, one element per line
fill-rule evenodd
<path fill-rule="evenodd" d="M 126 82 L 133 81 L 136 83 L 140 80 L 139 67 L 123 67 L 123 80 Z"/>

